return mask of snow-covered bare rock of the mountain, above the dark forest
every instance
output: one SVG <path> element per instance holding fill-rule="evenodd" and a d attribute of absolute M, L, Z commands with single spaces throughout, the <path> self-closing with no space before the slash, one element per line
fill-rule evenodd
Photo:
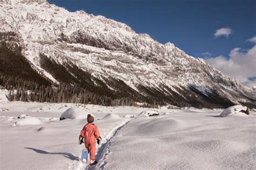
<path fill-rule="evenodd" d="M 163 45 L 148 34 L 138 34 L 124 23 L 84 11 L 69 12 L 46 0 L 3 2 L 0 31 L 18 34 L 22 54 L 51 80 L 39 62 L 40 54 L 57 63 L 73 63 L 103 82 L 106 77 L 122 80 L 136 91 L 143 86 L 172 96 L 192 89 L 208 96 L 219 89 L 218 95 L 224 96 L 228 89 L 234 91 L 234 97 L 226 95 L 232 102 L 239 100 L 236 93 L 247 93 L 236 92 L 234 88 L 245 88 L 206 61 L 187 55 L 171 42 Z"/>

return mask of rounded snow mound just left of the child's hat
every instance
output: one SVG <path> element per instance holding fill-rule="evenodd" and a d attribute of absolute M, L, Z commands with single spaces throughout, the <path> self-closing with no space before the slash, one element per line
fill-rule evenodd
<path fill-rule="evenodd" d="M 88 115 L 88 113 L 85 112 L 83 109 L 69 108 L 68 110 L 63 112 L 63 114 L 60 116 L 60 120 L 62 120 L 62 119 L 86 119 L 87 115 Z"/>

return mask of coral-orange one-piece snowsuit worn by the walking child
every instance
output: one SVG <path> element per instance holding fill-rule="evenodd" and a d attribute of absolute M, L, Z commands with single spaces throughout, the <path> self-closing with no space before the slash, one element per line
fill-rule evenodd
<path fill-rule="evenodd" d="M 84 125 L 80 135 L 84 137 L 84 145 L 87 148 L 90 159 L 95 159 L 96 139 L 99 138 L 98 127 L 94 123 Z"/>

